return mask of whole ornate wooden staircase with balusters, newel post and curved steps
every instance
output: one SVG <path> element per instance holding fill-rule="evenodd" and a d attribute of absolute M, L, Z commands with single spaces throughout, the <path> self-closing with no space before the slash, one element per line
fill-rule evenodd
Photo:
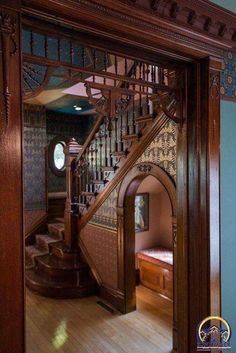
<path fill-rule="evenodd" d="M 168 87 L 168 79 L 173 86 L 172 76 L 166 76 L 166 85 L 157 85 L 159 91 L 85 84 L 97 121 L 83 146 L 72 139 L 65 149 L 64 228 L 61 221 L 48 224 L 48 233 L 36 235 L 36 244 L 26 247 L 29 288 L 55 298 L 95 293 L 97 276 L 90 272 L 80 231 L 168 120 L 182 122 L 180 91 Z"/>

